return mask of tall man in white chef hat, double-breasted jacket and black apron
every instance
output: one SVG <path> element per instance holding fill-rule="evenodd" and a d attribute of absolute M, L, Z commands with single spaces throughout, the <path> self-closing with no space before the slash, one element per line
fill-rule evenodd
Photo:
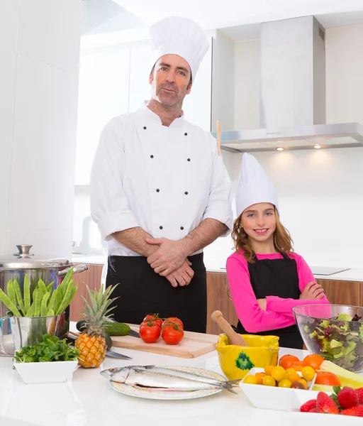
<path fill-rule="evenodd" d="M 91 215 L 108 245 L 106 286 L 120 283 L 114 319 L 158 313 L 206 332 L 203 248 L 232 227 L 230 178 L 216 139 L 181 108 L 209 44 L 179 17 L 151 26 L 150 40 L 151 99 L 102 131 Z"/>

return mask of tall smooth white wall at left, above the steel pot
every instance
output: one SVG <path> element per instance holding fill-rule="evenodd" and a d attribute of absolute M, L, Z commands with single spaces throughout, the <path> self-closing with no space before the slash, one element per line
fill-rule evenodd
<path fill-rule="evenodd" d="M 82 6 L 0 2 L 0 254 L 72 254 Z"/>

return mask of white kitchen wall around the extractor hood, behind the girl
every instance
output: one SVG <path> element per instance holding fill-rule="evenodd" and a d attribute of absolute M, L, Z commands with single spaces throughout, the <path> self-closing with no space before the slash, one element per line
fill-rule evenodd
<path fill-rule="evenodd" d="M 363 26 L 328 29 L 325 48 L 327 123 L 363 124 Z M 236 43 L 235 88 L 235 129 L 258 128 L 259 40 Z M 362 267 L 363 147 L 254 155 L 277 187 L 296 251 L 311 265 Z"/>

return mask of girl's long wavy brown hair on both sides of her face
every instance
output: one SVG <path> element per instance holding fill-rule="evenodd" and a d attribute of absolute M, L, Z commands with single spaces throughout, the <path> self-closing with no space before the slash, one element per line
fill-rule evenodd
<path fill-rule="evenodd" d="M 279 253 L 293 253 L 293 241 L 291 239 L 291 235 L 289 231 L 284 227 L 283 224 L 281 224 L 279 219 L 279 213 L 277 212 L 276 207 L 274 207 L 275 217 L 276 217 L 276 229 L 274 231 L 274 248 Z M 252 246 L 250 244 L 248 235 L 245 232 L 245 229 L 242 228 L 240 225 L 242 213 L 240 216 L 235 219 L 235 222 L 233 223 L 233 230 L 232 230 L 232 238 L 235 241 L 235 251 L 240 252 L 241 250 L 244 250 L 245 253 L 243 253 L 243 256 L 245 257 L 246 261 L 249 263 L 255 263 L 254 257 L 255 252 L 252 250 Z"/>

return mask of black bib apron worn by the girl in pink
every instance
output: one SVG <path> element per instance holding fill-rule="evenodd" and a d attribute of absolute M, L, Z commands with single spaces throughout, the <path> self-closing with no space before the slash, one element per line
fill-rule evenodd
<path fill-rule="evenodd" d="M 298 299 L 300 297 L 296 261 L 284 253 L 281 254 L 284 257 L 282 259 L 259 261 L 255 256 L 255 263 L 248 262 L 250 280 L 257 299 L 264 299 L 267 296 L 278 296 L 284 299 Z M 303 339 L 296 324 L 267 332 L 248 333 L 238 321 L 237 332 L 240 334 L 279 336 L 280 347 L 303 349 Z"/>

